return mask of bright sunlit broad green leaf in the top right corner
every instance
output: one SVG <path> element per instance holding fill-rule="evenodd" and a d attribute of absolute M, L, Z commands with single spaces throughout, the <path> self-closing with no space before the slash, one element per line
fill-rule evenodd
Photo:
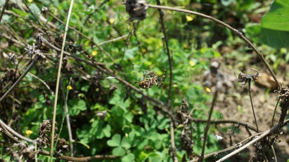
<path fill-rule="evenodd" d="M 289 0 L 274 0 L 261 25 L 266 29 L 289 31 Z"/>

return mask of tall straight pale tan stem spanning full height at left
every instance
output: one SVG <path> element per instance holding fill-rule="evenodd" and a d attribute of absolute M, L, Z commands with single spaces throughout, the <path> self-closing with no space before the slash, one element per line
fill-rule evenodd
<path fill-rule="evenodd" d="M 69 6 L 69 11 L 68 11 L 68 16 L 67 16 L 67 22 L 64 30 L 64 36 L 63 36 L 63 42 L 62 42 L 62 47 L 61 47 L 61 53 L 60 53 L 60 60 L 59 60 L 59 65 L 58 65 L 58 73 L 57 73 L 57 80 L 56 80 L 56 89 L 55 89 L 55 99 L 54 99 L 54 106 L 53 106 L 53 118 L 52 118 L 52 133 L 51 133 L 51 146 L 50 146 L 50 162 L 52 162 L 52 157 L 53 157 L 53 146 L 54 146 L 54 132 L 55 132 L 55 118 L 56 118 L 56 106 L 57 106 L 57 97 L 58 97 L 58 89 L 59 89 L 59 80 L 60 80 L 60 75 L 61 75 L 61 66 L 62 66 L 62 59 L 63 59 L 63 51 L 64 51 L 64 46 L 65 46 L 65 41 L 66 41 L 66 36 L 67 36 L 67 31 L 68 31 L 68 24 L 69 24 L 69 19 L 70 19 L 70 14 L 72 11 L 72 6 L 73 6 L 73 1 L 70 1 L 70 6 Z"/>

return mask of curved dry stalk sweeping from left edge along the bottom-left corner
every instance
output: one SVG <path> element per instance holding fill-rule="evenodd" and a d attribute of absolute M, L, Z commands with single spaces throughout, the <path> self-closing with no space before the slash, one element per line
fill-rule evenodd
<path fill-rule="evenodd" d="M 0 130 L 1 133 L 4 133 L 7 137 L 9 137 L 10 139 L 12 139 L 15 143 L 22 143 L 21 141 L 19 141 L 16 137 L 14 137 L 12 134 L 14 134 L 15 136 L 17 136 L 18 138 L 27 141 L 29 143 L 34 144 L 37 140 L 32 140 L 29 139 L 27 137 L 24 137 L 23 135 L 17 133 L 15 130 L 13 130 L 12 128 L 10 128 L 6 123 L 4 123 L 1 119 L 0 119 L 0 128 L 2 128 L 2 130 Z M 12 134 L 11 134 L 12 133 Z M 24 144 L 24 143 L 23 143 Z M 26 144 L 25 144 L 26 145 Z M 26 145 L 27 146 L 27 145 Z M 42 155 L 50 155 L 49 151 L 45 151 L 45 150 L 41 150 L 38 149 L 38 153 L 42 154 Z M 53 155 L 54 157 L 58 157 L 58 155 Z M 88 157 L 80 157 L 80 158 L 76 158 L 76 157 L 70 157 L 70 156 L 65 156 L 65 155 L 59 155 L 60 159 L 66 160 L 66 161 L 73 161 L 73 162 L 87 162 L 87 161 L 91 161 L 94 159 L 118 159 L 119 157 L 114 156 L 114 155 L 94 155 L 94 156 L 88 156 Z"/>

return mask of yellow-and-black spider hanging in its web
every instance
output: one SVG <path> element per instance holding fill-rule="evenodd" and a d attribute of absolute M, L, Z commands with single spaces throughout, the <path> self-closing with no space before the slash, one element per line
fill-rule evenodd
<path fill-rule="evenodd" d="M 164 71 L 165 72 L 162 76 L 161 83 L 158 80 L 159 79 L 158 75 L 154 73 L 153 71 L 149 71 L 148 73 L 143 72 L 143 79 L 139 81 L 138 86 L 142 89 L 151 88 L 153 85 L 155 85 L 156 87 L 162 87 L 166 78 L 166 74 L 167 74 L 167 70 L 165 68 L 164 68 Z"/>

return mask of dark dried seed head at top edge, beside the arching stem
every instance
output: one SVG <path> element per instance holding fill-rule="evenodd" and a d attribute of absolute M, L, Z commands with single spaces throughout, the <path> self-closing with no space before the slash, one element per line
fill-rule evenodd
<path fill-rule="evenodd" d="M 143 20 L 147 16 L 148 6 L 146 0 L 126 0 L 125 9 L 130 15 L 129 21 Z"/>

